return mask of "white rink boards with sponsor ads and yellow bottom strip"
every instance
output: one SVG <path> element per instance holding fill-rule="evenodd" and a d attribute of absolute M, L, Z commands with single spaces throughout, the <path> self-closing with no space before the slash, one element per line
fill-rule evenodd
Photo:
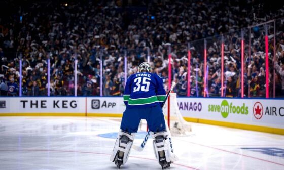
<path fill-rule="evenodd" d="M 177 107 L 187 121 L 284 135 L 284 100 L 177 98 Z M 124 110 L 122 97 L 0 98 L 0 116 L 121 117 Z"/>

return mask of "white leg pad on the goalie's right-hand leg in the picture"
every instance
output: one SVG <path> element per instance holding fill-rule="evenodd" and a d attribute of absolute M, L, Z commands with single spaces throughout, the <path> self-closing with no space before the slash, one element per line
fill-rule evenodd
<path fill-rule="evenodd" d="M 154 152 L 156 158 L 158 159 L 158 162 L 159 162 L 159 151 L 165 152 L 165 158 L 167 162 L 172 163 L 179 160 L 179 158 L 177 158 L 177 156 L 173 153 L 172 142 L 171 138 L 169 137 L 170 134 L 168 132 L 159 132 L 152 135 L 154 139 L 157 139 L 158 136 L 161 136 L 163 138 L 162 142 L 157 142 L 156 140 L 153 140 Z"/>

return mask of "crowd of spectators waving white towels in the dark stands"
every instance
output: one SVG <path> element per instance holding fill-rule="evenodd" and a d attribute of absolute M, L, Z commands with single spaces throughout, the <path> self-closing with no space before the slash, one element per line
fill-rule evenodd
<path fill-rule="evenodd" d="M 131 4 L 131 2 L 133 4 Z M 221 95 L 221 40 L 224 38 L 224 96 L 240 96 L 241 32 L 244 28 L 244 93 L 265 97 L 265 38 L 256 24 L 253 2 L 242 1 L 82 1 L 25 4 L 9 20 L 0 20 L 1 96 L 19 95 L 22 59 L 22 96 L 45 96 L 50 63 L 50 95 L 121 96 L 124 91 L 124 59 L 127 76 L 147 61 L 168 85 L 168 55 L 172 56 L 174 91 L 187 95 L 187 53 L 191 51 L 190 95 Z M 265 13 L 266 20 L 284 16 L 283 8 Z M 284 96 L 284 20 L 268 25 L 269 83 Z M 251 36 L 251 47 L 248 37 Z M 204 74 L 204 38 L 207 74 Z M 190 43 L 190 44 L 189 44 Z M 248 49 L 251 48 L 251 56 Z M 276 60 L 273 50 L 276 48 Z M 77 87 L 75 87 L 77 61 Z M 102 62 L 102 68 L 100 68 Z M 275 75 L 274 74 L 275 63 Z M 100 77 L 102 69 L 103 77 Z M 102 84 L 100 84 L 102 78 Z M 203 87 L 203 81 L 207 86 Z M 273 96 L 273 88 L 270 88 Z"/>

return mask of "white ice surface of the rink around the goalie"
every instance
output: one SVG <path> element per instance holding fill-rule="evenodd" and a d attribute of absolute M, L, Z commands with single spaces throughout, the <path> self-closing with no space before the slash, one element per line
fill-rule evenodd
<path fill-rule="evenodd" d="M 0 117 L 0 169 L 117 169 L 109 160 L 120 118 Z M 136 135 L 141 143 L 144 132 Z M 192 123 L 173 138 L 170 169 L 284 169 L 284 136 Z M 142 130 L 140 130 L 142 131 Z M 121 169 L 161 169 L 152 139 Z"/>

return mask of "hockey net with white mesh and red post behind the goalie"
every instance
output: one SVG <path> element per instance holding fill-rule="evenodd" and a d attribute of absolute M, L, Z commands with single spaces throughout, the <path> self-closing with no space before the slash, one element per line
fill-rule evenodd
<path fill-rule="evenodd" d="M 169 109 L 168 101 L 163 107 L 163 113 L 166 121 L 169 122 L 168 126 L 172 136 L 190 136 L 192 135 L 191 124 L 187 122 L 177 106 L 176 93 L 170 93 L 169 96 Z M 168 112 L 169 110 L 169 112 Z M 169 121 L 168 121 L 169 117 Z"/>

